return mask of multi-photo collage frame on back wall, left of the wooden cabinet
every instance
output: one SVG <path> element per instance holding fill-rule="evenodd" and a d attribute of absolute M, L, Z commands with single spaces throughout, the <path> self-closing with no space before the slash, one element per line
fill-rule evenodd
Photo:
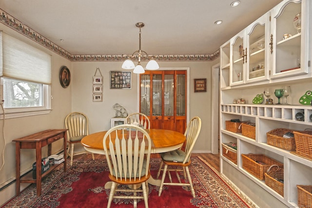
<path fill-rule="evenodd" d="M 111 71 L 110 89 L 131 89 L 131 72 Z"/>

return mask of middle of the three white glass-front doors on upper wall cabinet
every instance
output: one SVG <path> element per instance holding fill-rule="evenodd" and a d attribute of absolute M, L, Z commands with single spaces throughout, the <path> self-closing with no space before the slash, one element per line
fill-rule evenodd
<path fill-rule="evenodd" d="M 257 19 L 247 30 L 246 41 L 248 42 L 246 83 L 269 79 L 269 57 L 268 57 L 268 39 L 269 27 L 268 14 Z"/>

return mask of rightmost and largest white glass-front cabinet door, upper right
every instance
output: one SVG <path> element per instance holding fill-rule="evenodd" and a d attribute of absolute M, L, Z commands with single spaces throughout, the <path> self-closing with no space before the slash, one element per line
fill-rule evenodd
<path fill-rule="evenodd" d="M 271 78 L 309 70 L 308 0 L 284 0 L 271 11 Z"/>

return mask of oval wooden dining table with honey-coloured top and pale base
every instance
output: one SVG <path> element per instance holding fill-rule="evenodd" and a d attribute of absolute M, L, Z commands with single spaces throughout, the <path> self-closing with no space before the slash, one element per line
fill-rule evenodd
<path fill-rule="evenodd" d="M 167 151 L 173 151 L 182 147 L 186 140 L 184 134 L 171 130 L 164 129 L 147 129 L 146 130 L 151 137 L 152 148 L 151 153 L 161 153 Z M 82 138 L 81 144 L 84 149 L 96 154 L 105 154 L 103 148 L 103 138 L 107 131 L 97 132 L 89 134 Z M 160 186 L 161 180 L 154 179 L 152 176 L 149 178 L 148 183 Z M 105 184 L 105 189 L 109 189 L 111 183 Z"/>

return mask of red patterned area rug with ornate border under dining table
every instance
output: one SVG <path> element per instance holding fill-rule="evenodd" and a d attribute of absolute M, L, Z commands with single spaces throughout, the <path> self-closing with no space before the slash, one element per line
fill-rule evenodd
<path fill-rule="evenodd" d="M 151 174 L 156 178 L 159 158 L 151 159 Z M 161 196 L 158 187 L 149 185 L 150 208 L 249 208 L 249 206 L 212 170 L 205 161 L 192 157 L 191 177 L 196 197 L 185 187 L 164 186 Z M 175 173 L 171 174 L 174 178 Z M 168 176 L 167 176 L 168 177 Z M 180 175 L 184 180 L 183 173 Z M 169 180 L 169 179 L 168 179 Z M 109 181 L 105 159 L 74 160 L 63 172 L 62 165 L 42 181 L 42 194 L 36 195 L 36 185 L 21 192 L 4 208 L 103 208 L 107 206 Z M 131 208 L 133 200 L 114 199 L 112 208 Z M 144 202 L 137 203 L 138 208 Z"/>

